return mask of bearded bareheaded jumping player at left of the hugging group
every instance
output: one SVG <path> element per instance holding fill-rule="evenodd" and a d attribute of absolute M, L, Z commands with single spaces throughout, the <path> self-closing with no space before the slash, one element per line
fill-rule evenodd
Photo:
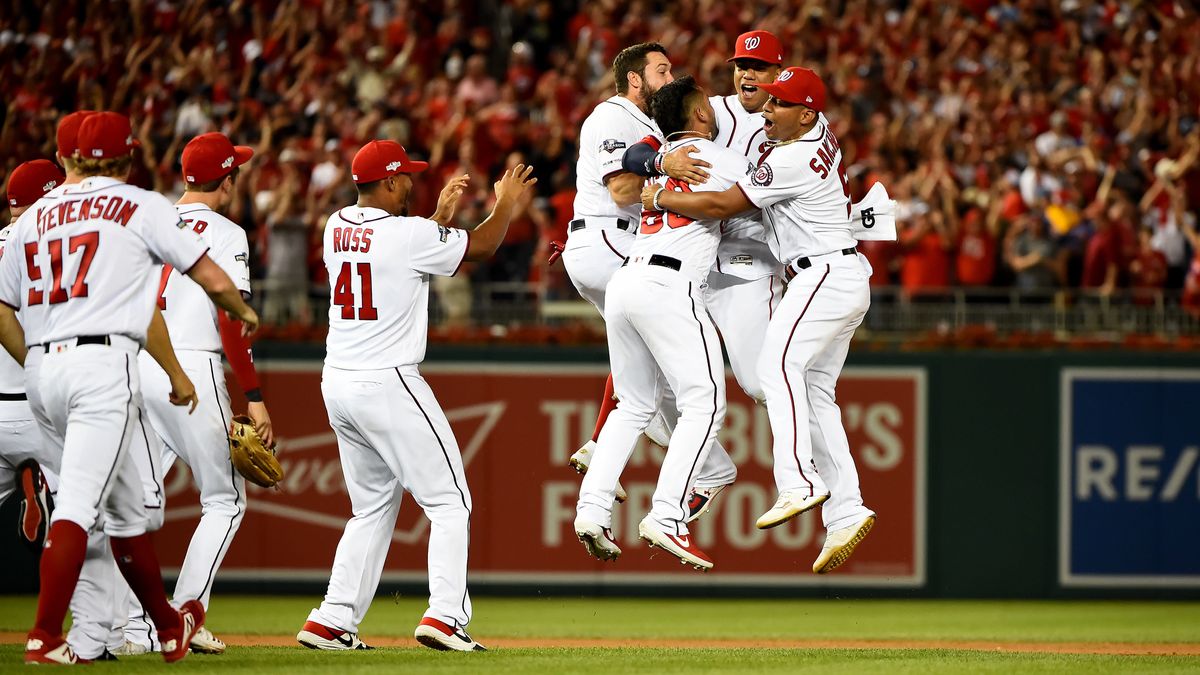
<path fill-rule="evenodd" d="M 605 288 L 625 261 L 641 217 L 637 196 L 642 178 L 625 172 L 620 159 L 625 149 L 658 126 L 647 117 L 650 96 L 670 83 L 671 59 L 656 42 L 626 47 L 612 61 L 617 94 L 598 104 L 580 130 L 580 159 L 575 167 L 575 219 L 566 233 L 563 265 L 584 300 L 605 313 Z M 571 464 L 587 472 L 600 430 L 616 407 L 612 376 L 605 383 L 592 438 L 571 456 Z M 618 501 L 625 491 L 617 485 Z"/>

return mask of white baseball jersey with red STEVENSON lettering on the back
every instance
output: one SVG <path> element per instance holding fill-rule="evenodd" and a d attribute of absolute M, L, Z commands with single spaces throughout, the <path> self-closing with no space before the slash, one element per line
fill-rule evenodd
<path fill-rule="evenodd" d="M 144 344 L 154 265 L 186 271 L 206 251 L 181 225 L 157 192 L 108 177 L 67 185 L 18 220 L 10 246 L 25 255 L 0 259 L 0 300 L 38 307 L 43 342 L 120 334 Z"/>

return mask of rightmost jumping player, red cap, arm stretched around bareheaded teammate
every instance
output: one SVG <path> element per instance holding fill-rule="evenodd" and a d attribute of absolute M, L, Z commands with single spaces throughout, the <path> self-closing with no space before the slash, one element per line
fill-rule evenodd
<path fill-rule="evenodd" d="M 754 174 L 724 192 L 666 193 L 660 204 L 691 217 L 761 208 L 773 251 L 788 262 L 793 277 L 758 360 L 780 496 L 756 525 L 775 527 L 836 491 L 836 508 L 822 509 L 826 543 L 812 566 L 826 573 L 845 562 L 875 524 L 834 398 L 850 340 L 870 304 L 870 268 L 854 249 L 841 149 L 822 115 L 824 83 L 811 70 L 790 67 L 760 89 L 770 95 L 763 118 L 774 144 Z M 643 204 L 650 196 L 643 192 Z"/>

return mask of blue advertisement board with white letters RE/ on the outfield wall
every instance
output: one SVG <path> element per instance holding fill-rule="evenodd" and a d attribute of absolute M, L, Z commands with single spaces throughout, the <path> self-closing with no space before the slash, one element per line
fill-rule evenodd
<path fill-rule="evenodd" d="M 1200 587 L 1200 370 L 1062 371 L 1063 586 Z"/>

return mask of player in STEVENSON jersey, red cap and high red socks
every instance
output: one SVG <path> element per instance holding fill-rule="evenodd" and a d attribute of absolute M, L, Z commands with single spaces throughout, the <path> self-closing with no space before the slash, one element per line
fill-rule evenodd
<path fill-rule="evenodd" d="M 154 259 L 187 269 L 248 325 L 257 324 L 257 316 L 208 258 L 199 239 L 180 231 L 169 202 L 122 181 L 133 147 L 124 115 L 96 113 L 84 119 L 78 171 L 88 178 L 23 214 L 10 247 L 20 246 L 25 255 L 0 258 L 5 311 L 24 312 L 23 321 L 35 327 L 31 334 L 42 340 L 26 345 L 44 352 L 36 382 L 28 389 L 37 389 L 44 414 L 64 438 L 58 504 L 41 560 L 42 587 L 25 644 L 26 663 L 77 662 L 62 639 L 62 621 L 88 532 L 97 525 L 110 537 L 122 575 L 158 627 L 167 662 L 186 656 L 204 623 L 198 602 L 176 610 L 162 591 L 146 533 L 142 478 L 128 452 L 139 395 L 133 358 L 146 341 L 154 315 Z M 7 319 L 0 322 L 0 331 L 10 350 L 14 338 L 26 340 L 13 334 Z M 24 360 L 24 353 L 14 356 Z"/>

